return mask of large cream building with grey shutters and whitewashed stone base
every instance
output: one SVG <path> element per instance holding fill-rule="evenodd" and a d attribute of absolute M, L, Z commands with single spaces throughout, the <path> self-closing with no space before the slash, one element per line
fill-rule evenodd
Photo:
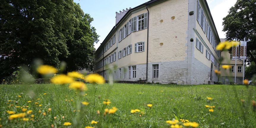
<path fill-rule="evenodd" d="M 116 25 L 96 50 L 94 73 L 106 80 L 213 84 L 218 42 L 206 0 L 151 0 L 116 12 Z"/>

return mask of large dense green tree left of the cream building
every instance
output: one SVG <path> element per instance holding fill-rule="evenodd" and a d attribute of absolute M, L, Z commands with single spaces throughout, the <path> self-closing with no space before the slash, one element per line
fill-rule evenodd
<path fill-rule="evenodd" d="M 36 59 L 67 70 L 92 69 L 98 35 L 73 0 L 0 2 L 0 78 Z"/>

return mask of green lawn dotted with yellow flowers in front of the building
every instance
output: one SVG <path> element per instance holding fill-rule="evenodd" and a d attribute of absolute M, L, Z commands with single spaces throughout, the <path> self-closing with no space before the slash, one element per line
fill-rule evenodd
<path fill-rule="evenodd" d="M 255 100 L 254 86 L 230 85 L 149 85 L 149 84 L 109 84 L 98 85 L 96 93 L 94 85 L 87 84 L 87 95 L 78 97 L 76 91 L 67 85 L 34 84 L 34 85 L 0 85 L 0 118 L 3 127 L 64 127 L 64 122 L 78 124 L 78 127 L 168 127 L 165 121 L 188 119 L 199 123 L 199 127 L 256 127 L 256 114 L 252 109 Z M 44 95 L 44 93 L 47 93 Z M 95 93 L 95 95 L 94 95 Z M 19 98 L 18 95 L 21 97 Z M 95 108 L 93 110 L 95 96 Z M 214 100 L 207 100 L 212 97 Z M 40 98 L 40 100 L 37 100 Z M 104 106 L 103 100 L 110 99 L 111 104 Z M 70 100 L 70 102 L 65 100 Z M 71 101 L 71 99 L 73 101 Z M 244 102 L 241 102 L 241 99 Z M 15 102 L 8 102 L 15 100 Z M 27 103 L 27 101 L 32 101 Z M 86 109 L 77 116 L 76 101 L 90 102 Z M 39 102 L 42 107 L 34 105 Z M 9 103 L 9 104 L 7 104 Z M 13 104 L 13 106 L 10 106 Z M 153 104 L 148 108 L 147 104 Z M 29 106 L 35 115 L 34 121 L 8 121 L 7 110 L 20 113 L 15 106 Z M 209 112 L 205 105 L 215 106 Z M 103 113 L 104 108 L 118 108 L 116 113 L 98 116 L 96 111 Z M 9 108 L 10 107 L 10 108 Z M 46 116 L 37 111 L 42 108 Z M 48 108 L 52 110 L 47 111 Z M 131 109 L 140 109 L 145 114 L 131 114 Z M 74 112 L 75 111 L 75 112 Z M 53 117 L 57 119 L 54 120 Z M 64 119 L 61 117 L 65 116 Z M 76 118 L 76 120 L 74 119 Z M 77 121 L 79 118 L 79 121 Z M 99 121 L 90 124 L 91 120 Z M 72 127 L 72 126 L 71 126 Z"/>

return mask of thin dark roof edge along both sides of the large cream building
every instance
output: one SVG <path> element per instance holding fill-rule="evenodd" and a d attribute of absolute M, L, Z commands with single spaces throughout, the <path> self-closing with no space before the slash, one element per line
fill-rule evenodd
<path fill-rule="evenodd" d="M 98 48 L 97 50 L 99 50 L 99 49 L 101 49 L 101 48 L 103 47 L 102 44 L 105 44 L 105 41 L 109 38 L 110 34 L 115 30 L 116 26 L 118 26 L 118 25 L 122 22 L 122 20 L 123 20 L 124 18 L 126 18 L 126 16 L 127 16 L 131 11 L 133 11 L 133 10 L 135 10 L 135 9 L 138 9 L 139 7 L 142 7 L 142 6 L 144 6 L 144 5 L 146 6 L 146 5 L 154 4 L 154 3 L 160 2 L 160 1 L 163 1 L 163 0 L 150 0 L 150 1 L 148 1 L 148 2 L 145 2 L 145 3 L 143 3 L 143 4 L 140 4 L 140 5 L 137 6 L 137 7 L 134 7 L 134 8 L 132 8 L 132 9 L 128 10 L 128 11 L 126 12 L 126 14 L 119 20 L 119 22 L 118 22 L 115 26 L 113 26 L 113 28 L 112 28 L 111 31 L 108 33 L 107 37 L 102 41 L 102 43 L 100 44 L 100 46 L 99 46 L 99 48 Z M 210 14 L 212 23 L 213 23 L 213 25 L 214 25 L 214 29 L 215 29 L 215 31 L 216 31 L 216 33 L 217 33 L 218 38 L 219 38 L 219 34 L 218 34 L 217 29 L 216 29 L 215 23 L 214 23 L 214 21 L 213 21 L 213 18 L 212 18 L 212 15 L 211 15 L 209 6 L 208 6 L 208 4 L 207 4 L 207 1 L 204 0 L 204 2 L 205 2 L 205 4 L 206 4 L 207 10 L 208 10 L 208 12 L 209 12 L 209 14 Z M 219 42 L 221 42 L 221 40 L 219 40 Z M 96 51 L 97 51 L 97 50 L 96 50 Z"/>

